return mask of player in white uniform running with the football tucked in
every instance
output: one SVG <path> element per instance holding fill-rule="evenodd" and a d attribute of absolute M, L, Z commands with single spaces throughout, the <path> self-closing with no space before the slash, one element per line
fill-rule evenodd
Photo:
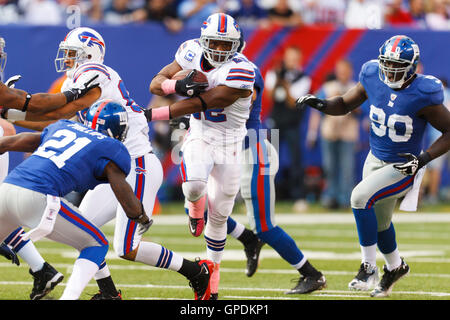
<path fill-rule="evenodd" d="M 224 13 L 209 16 L 201 27 L 200 38 L 181 44 L 175 60 L 162 68 L 150 84 L 153 94 L 178 93 L 191 97 L 150 109 L 149 120 L 194 112 L 182 145 L 182 189 L 188 201 L 189 229 L 194 236 L 203 231 L 208 198 L 204 238 L 207 257 L 215 264 L 211 282 L 213 297 L 218 293 L 227 218 L 240 186 L 242 141 L 247 132 L 245 124 L 255 81 L 253 65 L 237 52 L 239 39 L 240 28 L 233 17 Z M 181 70 L 203 73 L 209 86 L 205 88 L 204 83 L 193 79 L 183 83 L 172 79 Z"/>

